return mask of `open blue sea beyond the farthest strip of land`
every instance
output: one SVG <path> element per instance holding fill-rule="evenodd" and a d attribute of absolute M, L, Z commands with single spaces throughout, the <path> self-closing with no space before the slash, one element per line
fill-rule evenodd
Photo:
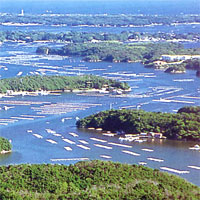
<path fill-rule="evenodd" d="M 1 0 L 0 12 L 41 14 L 47 11 L 58 14 L 199 14 L 199 0 Z"/>

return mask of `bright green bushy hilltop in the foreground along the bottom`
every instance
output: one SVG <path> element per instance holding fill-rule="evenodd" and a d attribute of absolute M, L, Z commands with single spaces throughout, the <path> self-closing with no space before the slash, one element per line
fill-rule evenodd
<path fill-rule="evenodd" d="M 197 186 L 178 176 L 144 166 L 94 160 L 69 166 L 1 166 L 0 172 L 2 200 L 200 198 Z"/>

